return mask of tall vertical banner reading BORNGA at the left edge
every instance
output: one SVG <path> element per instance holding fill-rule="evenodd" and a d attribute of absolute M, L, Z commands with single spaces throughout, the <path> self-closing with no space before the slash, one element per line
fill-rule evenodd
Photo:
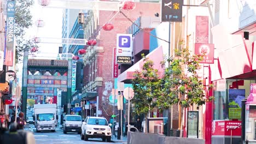
<path fill-rule="evenodd" d="M 13 66 L 15 1 L 7 1 L 5 64 Z"/>

